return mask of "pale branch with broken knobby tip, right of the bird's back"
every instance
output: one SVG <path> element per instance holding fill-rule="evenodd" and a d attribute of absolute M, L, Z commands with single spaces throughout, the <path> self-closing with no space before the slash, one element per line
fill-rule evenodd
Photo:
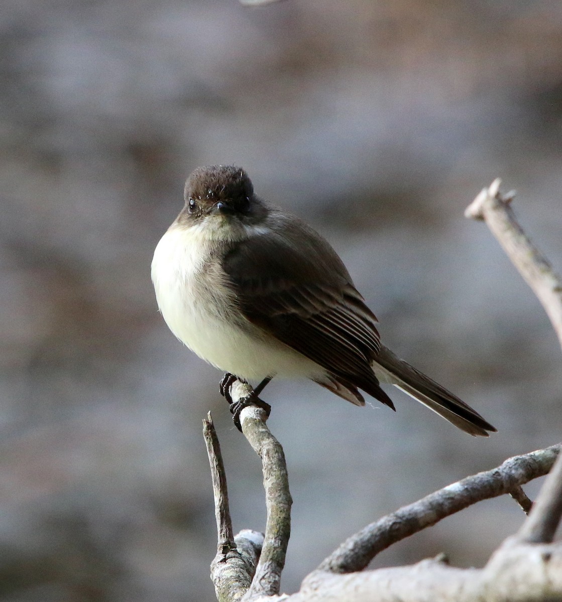
<path fill-rule="evenodd" d="M 554 273 L 548 259 L 532 244 L 517 223 L 510 206 L 514 193 L 502 197 L 499 192 L 500 182 L 497 178 L 489 188 L 484 188 L 467 207 L 464 215 L 486 222 L 511 262 L 542 303 L 562 347 L 562 281 Z"/>

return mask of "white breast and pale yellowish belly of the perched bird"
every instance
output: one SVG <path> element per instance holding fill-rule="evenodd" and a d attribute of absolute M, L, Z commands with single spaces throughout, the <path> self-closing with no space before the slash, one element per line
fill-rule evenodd
<path fill-rule="evenodd" d="M 172 226 L 154 251 L 152 280 L 162 316 L 172 333 L 210 364 L 253 380 L 267 376 L 311 377 L 323 369 L 254 327 L 235 309 L 232 293 L 214 287 L 201 303 L 206 242 L 197 229 Z M 196 288 L 197 285 L 197 288 Z M 236 326 L 236 319 L 244 325 Z M 233 324 L 233 325 L 231 325 Z"/>

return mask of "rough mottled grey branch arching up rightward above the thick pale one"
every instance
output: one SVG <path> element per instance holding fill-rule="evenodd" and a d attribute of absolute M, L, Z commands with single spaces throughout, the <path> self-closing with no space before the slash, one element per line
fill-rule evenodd
<path fill-rule="evenodd" d="M 552 445 L 514 456 L 493 470 L 467 477 L 400 508 L 352 535 L 323 560 L 318 569 L 332 573 L 364 569 L 376 554 L 397 541 L 431 527 L 477 501 L 510 493 L 517 485 L 545 475 L 561 447 Z"/>

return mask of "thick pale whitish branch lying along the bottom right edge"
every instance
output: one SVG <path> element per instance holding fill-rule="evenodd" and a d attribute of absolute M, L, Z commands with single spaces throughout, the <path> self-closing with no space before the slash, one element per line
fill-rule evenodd
<path fill-rule="evenodd" d="M 562 545 L 508 539 L 484 569 L 438 559 L 335 575 L 314 571 L 286 602 L 545 602 L 562 600 Z M 264 601 L 265 602 L 265 601 Z"/>

